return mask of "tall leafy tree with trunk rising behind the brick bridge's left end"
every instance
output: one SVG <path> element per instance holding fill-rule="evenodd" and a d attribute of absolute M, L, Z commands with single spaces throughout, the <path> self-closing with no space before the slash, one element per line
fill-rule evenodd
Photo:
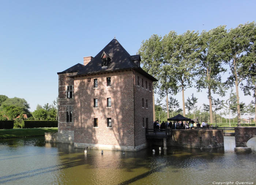
<path fill-rule="evenodd" d="M 238 87 L 246 79 L 246 73 L 249 71 L 249 65 L 245 64 L 244 61 L 248 61 L 246 60 L 248 57 L 246 54 L 250 52 L 253 45 L 251 41 L 254 27 L 254 22 L 240 24 L 235 29 L 231 29 L 227 33 L 227 37 L 223 39 L 223 43 L 225 44 L 225 50 L 223 50 L 225 52 L 225 63 L 229 65 L 231 71 L 226 84 L 229 86 L 235 85 L 236 87 L 238 127 L 241 126 Z"/>

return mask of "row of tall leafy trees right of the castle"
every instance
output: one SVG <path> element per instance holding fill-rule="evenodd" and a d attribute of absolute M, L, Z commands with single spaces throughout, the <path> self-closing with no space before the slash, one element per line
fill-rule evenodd
<path fill-rule="evenodd" d="M 154 34 L 143 41 L 138 54 L 141 56 L 143 69 L 158 79 L 158 82 L 154 82 L 153 92 L 158 93 L 161 99 L 166 97 L 167 118 L 169 112 L 178 108 L 177 102 L 169 100 L 168 95 L 176 95 L 178 92 L 182 92 L 183 116 L 186 116 L 187 108 L 195 117 L 196 98 L 193 94 L 187 102 L 184 98 L 185 90 L 193 84 L 198 92 L 207 90 L 209 103 L 203 106 L 209 112 L 211 124 L 217 122 L 216 113 L 226 107 L 229 114 L 236 112 L 240 126 L 242 107 L 245 105 L 240 102 L 239 87 L 245 95 L 252 97 L 252 102 L 248 105 L 250 111 L 247 112 L 256 114 L 255 39 L 256 24 L 251 22 L 230 30 L 226 30 L 226 26 L 218 26 L 210 31 L 203 30 L 200 34 L 198 31 L 188 30 L 178 35 L 175 31 L 170 31 L 164 37 Z M 225 72 L 229 72 L 229 77 L 222 82 Z M 227 102 L 214 98 L 216 94 L 223 97 L 226 90 L 233 87 L 235 93 L 231 93 L 232 97 Z M 169 101 L 174 103 L 170 105 Z M 159 108 L 156 105 L 155 111 Z M 156 112 L 154 120 L 159 116 Z"/>

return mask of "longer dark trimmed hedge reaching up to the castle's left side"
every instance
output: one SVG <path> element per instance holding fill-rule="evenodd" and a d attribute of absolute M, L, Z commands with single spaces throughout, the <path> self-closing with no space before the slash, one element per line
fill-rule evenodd
<path fill-rule="evenodd" d="M 58 121 L 34 121 L 25 120 L 24 128 L 45 128 L 45 127 L 58 127 Z"/>

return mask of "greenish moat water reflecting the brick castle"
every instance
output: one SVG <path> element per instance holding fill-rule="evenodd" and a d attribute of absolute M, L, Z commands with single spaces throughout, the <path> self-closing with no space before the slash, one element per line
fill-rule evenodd
<path fill-rule="evenodd" d="M 125 155 L 93 149 L 84 154 L 72 144 L 45 143 L 44 137 L 0 140 L 0 184 L 256 184 L 256 152 L 236 154 L 234 137 L 224 139 L 219 149 L 169 147 L 159 153 L 152 147 Z"/>

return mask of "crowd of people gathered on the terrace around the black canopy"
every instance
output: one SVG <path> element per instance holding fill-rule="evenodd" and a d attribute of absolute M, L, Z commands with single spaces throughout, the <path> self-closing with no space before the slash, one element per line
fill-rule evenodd
<path fill-rule="evenodd" d="M 161 124 L 158 123 L 158 121 L 153 122 L 153 128 L 154 131 L 159 130 L 159 129 L 193 129 L 193 128 L 209 128 L 209 125 L 206 122 L 200 123 L 192 123 L 192 122 L 183 122 L 183 121 L 163 121 Z"/>

